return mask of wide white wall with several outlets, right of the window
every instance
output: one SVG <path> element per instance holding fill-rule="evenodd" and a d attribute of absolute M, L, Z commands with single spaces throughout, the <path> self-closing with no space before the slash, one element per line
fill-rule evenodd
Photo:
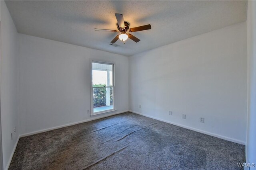
<path fill-rule="evenodd" d="M 134 55 L 129 65 L 132 111 L 245 144 L 246 22 Z"/>

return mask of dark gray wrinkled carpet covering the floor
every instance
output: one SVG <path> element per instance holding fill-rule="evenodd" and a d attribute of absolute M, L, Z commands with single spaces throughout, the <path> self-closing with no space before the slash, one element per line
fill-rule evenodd
<path fill-rule="evenodd" d="M 11 170 L 240 169 L 245 147 L 134 113 L 20 138 Z"/>

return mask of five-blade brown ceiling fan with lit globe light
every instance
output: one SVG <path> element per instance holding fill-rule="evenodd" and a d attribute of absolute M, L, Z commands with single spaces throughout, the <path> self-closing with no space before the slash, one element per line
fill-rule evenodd
<path fill-rule="evenodd" d="M 116 37 L 111 41 L 111 43 L 115 43 L 118 39 L 120 39 L 121 41 L 124 42 L 130 38 L 133 41 L 135 41 L 136 43 L 138 43 L 140 41 L 140 39 L 138 39 L 137 37 L 133 36 L 130 33 L 127 32 L 136 32 L 136 31 L 143 31 L 143 30 L 147 30 L 147 29 L 151 29 L 151 25 L 143 25 L 140 27 L 134 27 L 134 28 L 129 28 L 130 24 L 126 21 L 124 21 L 124 17 L 122 14 L 115 14 L 116 16 L 116 20 L 117 20 L 117 29 L 118 30 L 113 30 L 113 29 L 98 29 L 98 28 L 94 28 L 95 31 L 108 31 L 108 32 L 120 32 L 121 34 L 116 35 Z"/>

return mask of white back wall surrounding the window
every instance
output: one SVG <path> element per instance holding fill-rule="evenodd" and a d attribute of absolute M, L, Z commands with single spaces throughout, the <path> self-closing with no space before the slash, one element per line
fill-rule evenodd
<path fill-rule="evenodd" d="M 115 62 L 114 113 L 128 110 L 128 57 L 24 34 L 19 44 L 21 135 L 97 117 L 86 114 L 90 58 Z"/>

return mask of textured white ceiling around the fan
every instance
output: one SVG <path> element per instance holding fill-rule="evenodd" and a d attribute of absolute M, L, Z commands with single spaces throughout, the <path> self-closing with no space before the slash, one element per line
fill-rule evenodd
<path fill-rule="evenodd" d="M 247 1 L 5 1 L 19 33 L 122 55 L 134 55 L 246 21 Z M 109 45 L 118 33 L 115 13 L 130 27 L 151 24 L 132 33 L 118 47 Z"/>

